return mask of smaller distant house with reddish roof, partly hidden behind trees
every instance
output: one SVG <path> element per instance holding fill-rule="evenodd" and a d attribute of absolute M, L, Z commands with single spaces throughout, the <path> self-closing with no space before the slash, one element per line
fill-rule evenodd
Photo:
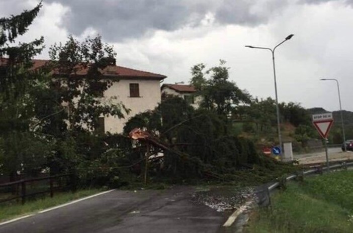
<path fill-rule="evenodd" d="M 162 94 L 177 95 L 184 98 L 191 106 L 195 108 L 199 106 L 200 97 L 195 95 L 196 89 L 192 85 L 165 83 L 160 89 Z"/>

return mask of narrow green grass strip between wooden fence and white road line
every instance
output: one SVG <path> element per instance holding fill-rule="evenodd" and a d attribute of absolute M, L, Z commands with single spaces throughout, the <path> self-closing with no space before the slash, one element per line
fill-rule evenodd
<path fill-rule="evenodd" d="M 102 189 L 84 189 L 78 190 L 75 193 L 54 193 L 54 197 L 50 198 L 45 196 L 43 198 L 26 202 L 24 205 L 14 202 L 4 202 L 0 204 L 0 221 L 5 221 L 14 217 L 18 217 L 25 214 L 40 211 L 49 207 L 60 205 L 81 197 L 90 196 L 98 192 L 103 191 Z"/>

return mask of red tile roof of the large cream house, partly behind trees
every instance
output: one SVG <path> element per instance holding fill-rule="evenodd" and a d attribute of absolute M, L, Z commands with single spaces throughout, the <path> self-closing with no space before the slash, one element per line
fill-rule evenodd
<path fill-rule="evenodd" d="M 5 64 L 7 61 L 6 58 L 0 59 L 0 65 Z M 44 66 L 49 60 L 39 60 L 34 59 L 33 68 L 37 69 Z M 59 74 L 58 71 L 54 71 L 55 74 Z M 85 75 L 87 73 L 87 68 L 82 68 L 76 72 L 77 75 Z M 146 78 L 146 79 L 164 79 L 165 75 L 135 70 L 123 66 L 108 66 L 103 69 L 103 75 L 106 77 L 116 77 L 116 78 Z"/>

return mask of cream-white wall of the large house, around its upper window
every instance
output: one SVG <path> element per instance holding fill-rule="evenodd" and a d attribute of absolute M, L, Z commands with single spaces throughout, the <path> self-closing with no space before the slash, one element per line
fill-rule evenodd
<path fill-rule="evenodd" d="M 130 83 L 138 83 L 140 97 L 130 97 Z M 125 114 L 125 119 L 106 117 L 104 121 L 105 131 L 110 133 L 122 133 L 125 123 L 135 114 L 146 110 L 153 110 L 160 102 L 160 81 L 159 80 L 133 80 L 123 79 L 114 82 L 105 91 L 105 97 L 117 96 L 116 102 L 123 102 L 131 111 Z"/>

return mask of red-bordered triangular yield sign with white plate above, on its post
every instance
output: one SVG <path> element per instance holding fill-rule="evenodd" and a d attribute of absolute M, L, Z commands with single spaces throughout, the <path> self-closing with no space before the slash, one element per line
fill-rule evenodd
<path fill-rule="evenodd" d="M 328 151 L 327 151 L 327 136 L 333 124 L 332 112 L 327 112 L 323 114 L 313 115 L 313 125 L 319 132 L 320 136 L 325 141 L 325 153 L 326 153 L 326 166 L 327 171 L 330 171 L 329 161 L 328 161 Z"/>

